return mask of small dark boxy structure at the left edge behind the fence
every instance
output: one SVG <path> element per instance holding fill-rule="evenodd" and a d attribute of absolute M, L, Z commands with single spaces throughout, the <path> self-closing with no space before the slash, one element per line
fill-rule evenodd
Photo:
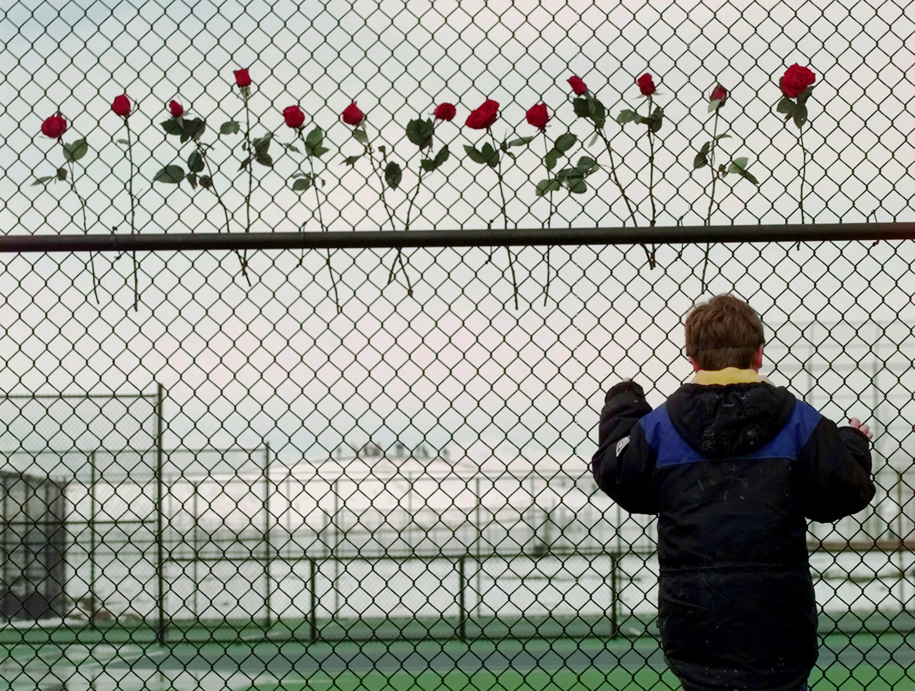
<path fill-rule="evenodd" d="M 0 471 L 0 620 L 62 617 L 64 485 L 47 477 Z"/>

